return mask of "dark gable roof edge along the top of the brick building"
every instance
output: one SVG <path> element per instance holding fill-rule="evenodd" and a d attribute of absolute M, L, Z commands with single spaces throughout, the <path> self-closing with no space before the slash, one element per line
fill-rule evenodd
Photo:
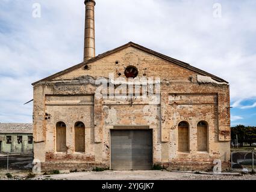
<path fill-rule="evenodd" d="M 223 82 L 223 83 L 228 83 L 225 80 L 221 79 L 220 77 L 214 76 L 213 74 L 207 73 L 206 71 L 200 70 L 199 68 L 193 67 L 190 64 L 187 64 L 186 62 L 179 61 L 177 59 L 170 58 L 169 56 L 163 55 L 161 53 L 155 52 L 154 50 L 148 49 L 146 47 L 140 46 L 139 44 L 129 42 L 127 44 L 124 44 L 123 46 L 117 47 L 116 49 L 110 50 L 108 52 L 102 53 L 95 58 L 89 59 L 87 61 L 81 62 L 80 64 L 74 65 L 73 67 L 67 68 L 66 70 L 60 71 L 59 73 L 55 73 L 52 76 L 46 77 L 45 79 L 39 80 L 37 82 L 32 83 L 32 85 L 36 85 L 37 83 L 40 82 L 45 82 L 52 80 L 56 77 L 59 77 L 63 74 L 69 73 L 70 71 L 76 70 L 77 68 L 83 67 L 83 65 L 90 64 L 92 62 L 97 61 L 98 59 L 104 58 L 105 56 L 111 55 L 113 53 L 119 52 L 120 50 L 126 49 L 128 47 L 134 47 L 136 49 L 142 50 L 143 52 L 149 53 L 151 55 L 157 56 L 161 59 L 164 59 L 166 61 L 172 62 L 173 64 L 179 65 L 180 67 L 184 67 L 188 70 L 194 71 L 198 74 L 201 74 L 203 76 L 209 76 L 214 80 L 217 80 L 217 82 Z"/>

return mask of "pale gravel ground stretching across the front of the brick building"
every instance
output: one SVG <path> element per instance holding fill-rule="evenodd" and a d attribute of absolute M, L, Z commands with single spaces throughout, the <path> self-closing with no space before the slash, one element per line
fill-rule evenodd
<path fill-rule="evenodd" d="M 12 179 L 27 179 L 26 172 L 12 172 Z M 7 179 L 0 173 L 0 179 Z M 227 176 L 201 175 L 195 173 L 169 171 L 104 171 L 104 172 L 76 172 L 58 175 L 37 175 L 34 180 L 256 180 L 256 175 Z"/>

